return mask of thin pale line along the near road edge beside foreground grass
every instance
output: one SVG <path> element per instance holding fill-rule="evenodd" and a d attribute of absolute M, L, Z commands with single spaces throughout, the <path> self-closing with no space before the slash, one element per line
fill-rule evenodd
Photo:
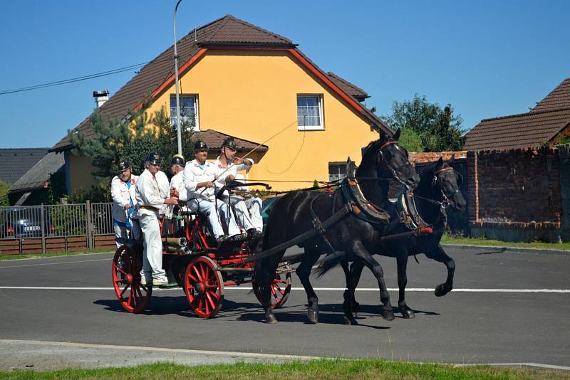
<path fill-rule="evenodd" d="M 192 355 L 212 355 L 217 357 L 242 357 L 248 359 L 280 359 L 280 360 L 318 360 L 318 359 L 349 359 L 343 358 L 333 358 L 333 357 L 312 357 L 307 355 L 287 355 L 287 354 L 261 354 L 254 352 L 231 352 L 231 351 L 209 351 L 201 349 L 173 349 L 166 347 L 146 347 L 146 346 L 117 346 L 113 344 L 92 344 L 92 343 L 72 343 L 72 342 L 51 342 L 51 341 L 41 341 L 41 340 L 21 340 L 21 339 L 0 339 L 0 343 L 6 344 L 36 344 L 43 346 L 52 347 L 69 347 L 78 349 L 116 349 L 121 352 L 128 351 L 138 351 L 138 352 L 170 352 L 177 354 L 192 354 Z M 68 353 L 66 353 L 68 354 Z M 420 362 L 425 363 L 425 362 Z M 541 364 L 541 363 L 484 363 L 484 364 L 453 364 L 455 366 L 514 366 L 514 367 L 539 367 L 544 369 L 556 369 L 561 371 L 570 371 L 570 366 L 556 366 L 552 364 Z"/>

